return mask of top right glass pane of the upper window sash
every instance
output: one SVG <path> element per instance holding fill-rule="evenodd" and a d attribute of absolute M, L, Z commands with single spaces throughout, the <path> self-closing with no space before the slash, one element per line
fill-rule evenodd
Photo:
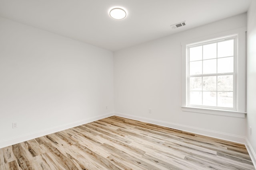
<path fill-rule="evenodd" d="M 234 56 L 234 39 L 218 43 L 218 58 Z"/>

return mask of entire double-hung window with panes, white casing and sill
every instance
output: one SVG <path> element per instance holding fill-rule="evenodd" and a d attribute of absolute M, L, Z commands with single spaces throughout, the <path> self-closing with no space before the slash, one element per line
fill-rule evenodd
<path fill-rule="evenodd" d="M 182 43 L 182 111 L 245 117 L 245 27 Z"/>

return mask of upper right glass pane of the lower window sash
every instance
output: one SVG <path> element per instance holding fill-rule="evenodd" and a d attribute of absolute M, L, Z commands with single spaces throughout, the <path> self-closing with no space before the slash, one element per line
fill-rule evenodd
<path fill-rule="evenodd" d="M 218 91 L 233 91 L 233 75 L 218 76 Z"/>

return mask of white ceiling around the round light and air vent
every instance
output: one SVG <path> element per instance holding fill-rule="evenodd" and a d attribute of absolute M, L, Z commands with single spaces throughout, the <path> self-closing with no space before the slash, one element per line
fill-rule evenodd
<path fill-rule="evenodd" d="M 0 16 L 117 51 L 242 14 L 251 0 L 0 0 Z M 124 7 L 124 20 L 109 9 Z M 186 21 L 184 27 L 170 25 Z"/>

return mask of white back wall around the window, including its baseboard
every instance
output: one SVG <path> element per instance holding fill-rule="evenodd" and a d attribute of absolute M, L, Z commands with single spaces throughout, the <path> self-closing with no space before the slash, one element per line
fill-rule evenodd
<path fill-rule="evenodd" d="M 246 14 L 115 52 L 116 115 L 244 143 L 245 118 L 181 110 L 181 43 L 240 27 Z"/>

